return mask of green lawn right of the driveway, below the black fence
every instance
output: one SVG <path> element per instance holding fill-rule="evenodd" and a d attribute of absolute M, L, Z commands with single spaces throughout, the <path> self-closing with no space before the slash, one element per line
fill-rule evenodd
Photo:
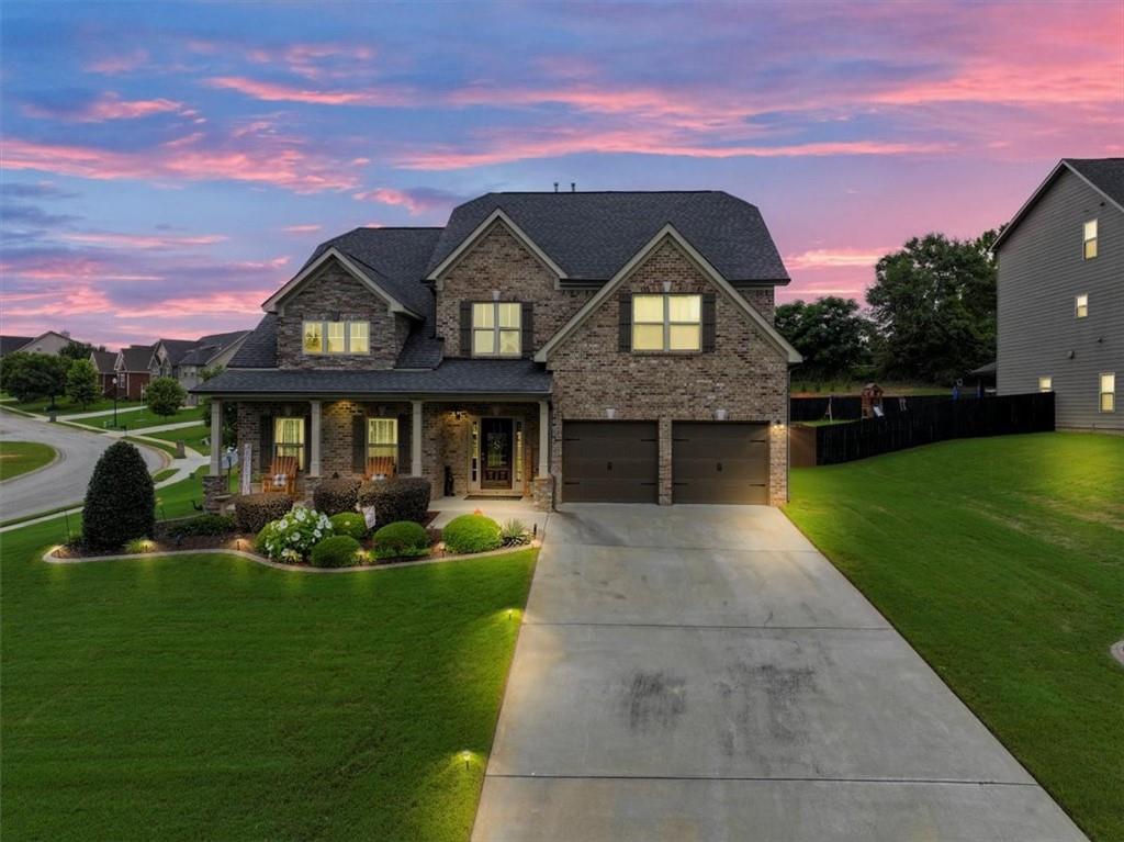
<path fill-rule="evenodd" d="M 792 471 L 792 520 L 1079 825 L 1124 839 L 1124 438 Z"/>

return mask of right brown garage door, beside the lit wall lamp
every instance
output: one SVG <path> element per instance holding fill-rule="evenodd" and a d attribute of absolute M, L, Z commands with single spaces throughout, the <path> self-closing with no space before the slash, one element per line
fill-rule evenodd
<path fill-rule="evenodd" d="M 769 503 L 769 425 L 677 422 L 674 503 Z"/>

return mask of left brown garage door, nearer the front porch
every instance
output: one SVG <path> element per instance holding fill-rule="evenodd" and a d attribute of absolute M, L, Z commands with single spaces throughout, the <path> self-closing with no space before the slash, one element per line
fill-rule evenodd
<path fill-rule="evenodd" d="M 563 503 L 659 501 L 654 422 L 563 422 Z"/>

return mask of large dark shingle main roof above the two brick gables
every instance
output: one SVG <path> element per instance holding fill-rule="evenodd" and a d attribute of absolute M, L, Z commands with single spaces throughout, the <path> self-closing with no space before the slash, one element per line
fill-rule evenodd
<path fill-rule="evenodd" d="M 573 280 L 608 280 L 669 223 L 728 281 L 789 280 L 761 211 L 719 190 L 487 193 L 453 210 L 426 274 L 497 209 Z"/>

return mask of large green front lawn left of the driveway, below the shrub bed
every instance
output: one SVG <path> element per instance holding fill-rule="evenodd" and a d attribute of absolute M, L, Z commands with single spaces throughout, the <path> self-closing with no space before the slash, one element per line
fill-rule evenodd
<path fill-rule="evenodd" d="M 0 535 L 4 839 L 468 839 L 535 551 L 40 561 L 63 537 Z"/>

